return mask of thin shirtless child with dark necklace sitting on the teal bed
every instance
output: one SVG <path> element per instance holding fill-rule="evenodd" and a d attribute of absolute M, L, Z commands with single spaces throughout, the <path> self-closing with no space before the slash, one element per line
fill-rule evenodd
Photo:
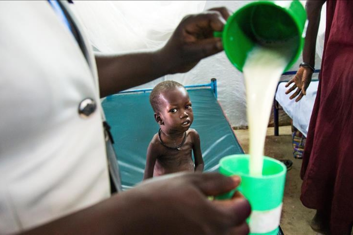
<path fill-rule="evenodd" d="M 143 178 L 181 171 L 202 172 L 200 137 L 196 130 L 189 129 L 193 112 L 185 87 L 175 81 L 163 81 L 152 90 L 150 103 L 160 129 L 148 146 Z"/>

